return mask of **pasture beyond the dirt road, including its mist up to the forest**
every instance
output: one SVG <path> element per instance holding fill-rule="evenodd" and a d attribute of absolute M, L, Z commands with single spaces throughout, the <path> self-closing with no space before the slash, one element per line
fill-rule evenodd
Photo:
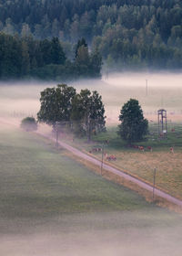
<path fill-rule="evenodd" d="M 88 145 L 84 140 L 75 138 L 74 145 L 90 151 L 97 144 L 109 141 L 105 152 L 116 155 L 119 168 L 134 176 L 138 176 L 150 184 L 153 183 L 154 169 L 157 169 L 157 187 L 171 195 L 182 198 L 182 75 L 180 73 L 123 73 L 109 74 L 102 80 L 79 80 L 70 82 L 77 91 L 88 88 L 98 91 L 106 108 L 107 133 L 94 137 L 94 144 Z M 46 87 L 56 86 L 54 82 L 38 83 L 9 82 L 0 85 L 0 117 L 13 118 L 16 123 L 25 116 L 35 116 L 40 108 L 40 91 Z M 139 145 L 151 146 L 153 152 L 139 152 L 129 148 L 117 136 L 118 115 L 122 105 L 130 98 L 135 98 L 141 104 L 150 124 L 150 135 L 147 142 Z M 157 110 L 167 110 L 167 140 L 157 140 Z M 172 133 L 171 130 L 175 129 Z M 45 133 L 50 133 L 44 130 Z M 72 134 L 64 134 L 62 139 L 71 143 Z M 83 143 L 82 143 L 83 142 Z M 170 147 L 174 154 L 170 154 Z M 101 155 L 95 154 L 101 158 Z"/>

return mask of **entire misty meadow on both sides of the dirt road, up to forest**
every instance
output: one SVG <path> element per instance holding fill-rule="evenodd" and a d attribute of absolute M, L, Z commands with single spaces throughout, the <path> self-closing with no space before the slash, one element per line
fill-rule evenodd
<path fill-rule="evenodd" d="M 107 133 L 94 137 L 92 144 L 78 138 L 73 142 L 73 135 L 66 133 L 61 139 L 87 153 L 108 140 L 105 152 L 116 155 L 111 165 L 149 183 L 157 168 L 157 187 L 182 198 L 181 75 L 111 74 L 108 80 L 70 84 L 77 91 L 88 88 L 103 96 Z M 53 86 L 56 83 L 1 83 L 1 121 L 19 125 L 26 116 L 36 117 L 40 91 Z M 119 111 L 130 98 L 139 101 L 152 121 L 148 140 L 141 143 L 152 146 L 152 152 L 127 147 L 116 134 Z M 169 133 L 164 141 L 157 140 L 160 108 L 167 109 Z M 1 255 L 181 255 L 181 216 L 106 181 L 50 141 L 10 126 L 1 122 L 0 127 Z"/>

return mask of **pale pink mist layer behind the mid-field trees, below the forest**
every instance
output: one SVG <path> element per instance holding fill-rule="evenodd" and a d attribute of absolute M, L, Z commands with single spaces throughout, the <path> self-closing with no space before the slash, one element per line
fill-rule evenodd
<path fill-rule="evenodd" d="M 111 73 L 102 80 L 70 82 L 77 91 L 98 91 L 103 98 L 107 123 L 118 123 L 122 105 L 135 98 L 142 105 L 146 117 L 157 120 L 157 110 L 167 110 L 168 119 L 182 116 L 182 75 L 178 73 Z M 60 81 L 61 83 L 61 81 Z M 0 84 L 0 115 L 12 117 L 36 116 L 40 103 L 40 91 L 54 87 L 56 82 L 13 82 Z"/>

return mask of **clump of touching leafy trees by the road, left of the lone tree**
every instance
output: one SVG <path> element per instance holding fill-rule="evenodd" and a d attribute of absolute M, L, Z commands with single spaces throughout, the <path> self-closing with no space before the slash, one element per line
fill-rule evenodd
<path fill-rule="evenodd" d="M 91 135 L 106 130 L 105 108 L 97 91 L 76 89 L 66 84 L 41 91 L 38 122 L 52 125 L 54 130 L 70 129 L 76 135 Z"/>

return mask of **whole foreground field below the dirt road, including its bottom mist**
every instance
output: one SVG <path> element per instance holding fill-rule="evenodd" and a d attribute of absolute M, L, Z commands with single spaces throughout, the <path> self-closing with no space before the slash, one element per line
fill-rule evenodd
<path fill-rule="evenodd" d="M 1 123 L 0 163 L 1 255 L 180 255 L 180 215 L 106 181 L 50 141 Z"/>

